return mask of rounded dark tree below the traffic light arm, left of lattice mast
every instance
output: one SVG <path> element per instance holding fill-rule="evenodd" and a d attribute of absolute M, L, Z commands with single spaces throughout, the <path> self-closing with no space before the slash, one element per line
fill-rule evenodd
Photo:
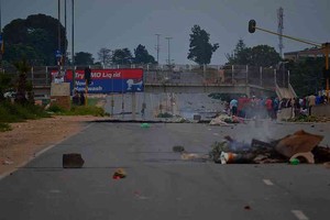
<path fill-rule="evenodd" d="M 249 62 L 249 65 L 274 67 L 278 62 L 280 62 L 280 56 L 274 47 L 268 45 L 257 45 L 251 48 L 251 61 Z"/>

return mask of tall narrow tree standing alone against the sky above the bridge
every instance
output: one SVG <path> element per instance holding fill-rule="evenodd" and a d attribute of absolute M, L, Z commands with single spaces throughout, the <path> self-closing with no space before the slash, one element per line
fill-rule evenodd
<path fill-rule="evenodd" d="M 210 44 L 210 34 L 200 29 L 199 25 L 195 24 L 191 32 L 187 58 L 199 65 L 209 64 L 213 52 L 219 48 L 219 44 Z"/>

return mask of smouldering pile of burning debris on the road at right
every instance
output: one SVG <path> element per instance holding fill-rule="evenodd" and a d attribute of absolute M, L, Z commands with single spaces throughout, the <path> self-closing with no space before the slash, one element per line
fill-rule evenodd
<path fill-rule="evenodd" d="M 323 136 L 304 130 L 271 142 L 254 139 L 251 144 L 226 136 L 212 145 L 210 157 L 221 164 L 327 163 L 330 147 L 319 146 L 322 140 Z"/>

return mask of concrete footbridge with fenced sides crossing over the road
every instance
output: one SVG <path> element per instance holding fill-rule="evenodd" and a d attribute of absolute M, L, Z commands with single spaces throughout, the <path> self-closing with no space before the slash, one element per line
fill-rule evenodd
<path fill-rule="evenodd" d="M 79 68 L 79 67 L 76 67 Z M 84 68 L 84 67 L 80 67 Z M 103 68 L 91 66 L 91 68 Z M 271 96 L 292 98 L 295 96 L 289 85 L 289 73 L 274 68 L 253 66 L 194 66 L 194 65 L 131 65 L 107 68 L 143 68 L 144 89 L 147 92 L 223 92 L 246 96 Z M 50 96 L 52 69 L 57 67 L 33 67 L 28 73 L 35 96 Z"/>

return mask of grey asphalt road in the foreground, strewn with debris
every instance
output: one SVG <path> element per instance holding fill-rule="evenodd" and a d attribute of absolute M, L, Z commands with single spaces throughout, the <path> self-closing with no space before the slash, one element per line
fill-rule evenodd
<path fill-rule="evenodd" d="M 330 125 L 150 125 L 91 123 L 41 154 L 0 180 L 0 219 L 329 219 L 330 169 L 322 165 L 183 161 L 172 147 L 204 155 L 227 134 L 239 141 L 298 129 L 324 135 Z M 81 153 L 84 168 L 63 169 L 64 153 Z M 127 178 L 112 179 L 118 167 Z"/>

